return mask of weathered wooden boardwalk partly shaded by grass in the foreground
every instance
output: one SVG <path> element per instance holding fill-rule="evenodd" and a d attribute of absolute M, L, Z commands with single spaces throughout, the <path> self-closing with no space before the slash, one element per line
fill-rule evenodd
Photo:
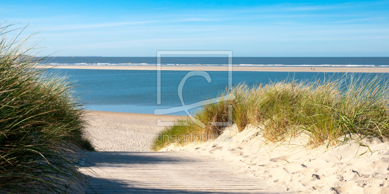
<path fill-rule="evenodd" d="M 185 152 L 86 152 L 87 194 L 278 193 L 230 171 L 226 163 Z M 94 171 L 94 172 L 92 172 Z M 97 175 L 96 175 L 97 174 Z"/>

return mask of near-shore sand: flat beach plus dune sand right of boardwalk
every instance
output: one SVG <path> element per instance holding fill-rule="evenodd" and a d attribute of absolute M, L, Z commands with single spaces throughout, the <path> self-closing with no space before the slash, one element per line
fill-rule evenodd
<path fill-rule="evenodd" d="M 152 139 L 164 128 L 156 120 L 180 117 L 89 111 L 88 133 L 98 151 L 149 151 Z M 228 136 L 231 141 L 226 141 Z M 360 144 L 369 146 L 371 152 Z M 314 149 L 306 145 L 304 137 L 266 144 L 259 128 L 249 125 L 239 133 L 233 125 L 213 141 L 184 147 L 171 144 L 161 151 L 227 162 L 237 173 L 263 180 L 280 192 L 389 193 L 387 141 L 371 138 Z"/>

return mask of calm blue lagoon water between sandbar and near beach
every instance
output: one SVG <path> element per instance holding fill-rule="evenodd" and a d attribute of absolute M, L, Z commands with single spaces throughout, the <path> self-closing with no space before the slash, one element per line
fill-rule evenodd
<path fill-rule="evenodd" d="M 67 74 L 69 80 L 77 80 L 76 91 L 88 103 L 91 110 L 126 113 L 152 114 L 157 108 L 182 106 L 177 88 L 181 79 L 189 71 L 161 71 L 161 104 L 157 105 L 156 71 L 152 70 L 103 70 L 103 69 L 50 69 Z M 209 71 L 210 83 L 201 76 L 188 78 L 183 88 L 185 104 L 192 104 L 216 97 L 228 86 L 227 71 Z M 256 85 L 269 81 L 291 79 L 324 79 L 329 76 L 342 76 L 343 73 L 314 72 L 253 72 L 234 71 L 233 85 L 246 83 Z M 375 74 L 373 74 L 375 75 Z M 192 110 L 193 111 L 193 110 Z M 185 115 L 185 113 L 173 113 Z"/>

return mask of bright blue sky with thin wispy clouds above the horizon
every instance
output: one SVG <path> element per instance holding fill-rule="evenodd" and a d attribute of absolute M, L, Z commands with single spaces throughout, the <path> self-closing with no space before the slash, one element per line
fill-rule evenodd
<path fill-rule="evenodd" d="M 389 57 L 389 1 L 2 1 L 0 21 L 43 30 L 39 55 Z"/>

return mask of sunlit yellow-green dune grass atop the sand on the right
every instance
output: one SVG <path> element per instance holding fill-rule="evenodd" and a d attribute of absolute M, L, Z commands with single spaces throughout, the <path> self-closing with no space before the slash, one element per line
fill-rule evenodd
<path fill-rule="evenodd" d="M 234 100 L 205 105 L 195 113 L 205 128 L 180 120 L 189 126 L 165 128 L 154 139 L 152 149 L 216 138 L 223 128 L 210 122 L 228 121 L 228 105 L 233 106 L 232 120 L 238 130 L 248 124 L 258 126 L 268 142 L 301 133 L 307 134 L 308 146 L 312 147 L 341 144 L 339 139 L 350 134 L 360 138 L 389 137 L 389 84 L 385 74 L 345 74 L 341 78 L 298 83 L 284 80 L 254 87 L 240 84 L 225 93 L 229 92 L 235 94 Z M 187 138 L 167 138 L 180 135 Z"/>

